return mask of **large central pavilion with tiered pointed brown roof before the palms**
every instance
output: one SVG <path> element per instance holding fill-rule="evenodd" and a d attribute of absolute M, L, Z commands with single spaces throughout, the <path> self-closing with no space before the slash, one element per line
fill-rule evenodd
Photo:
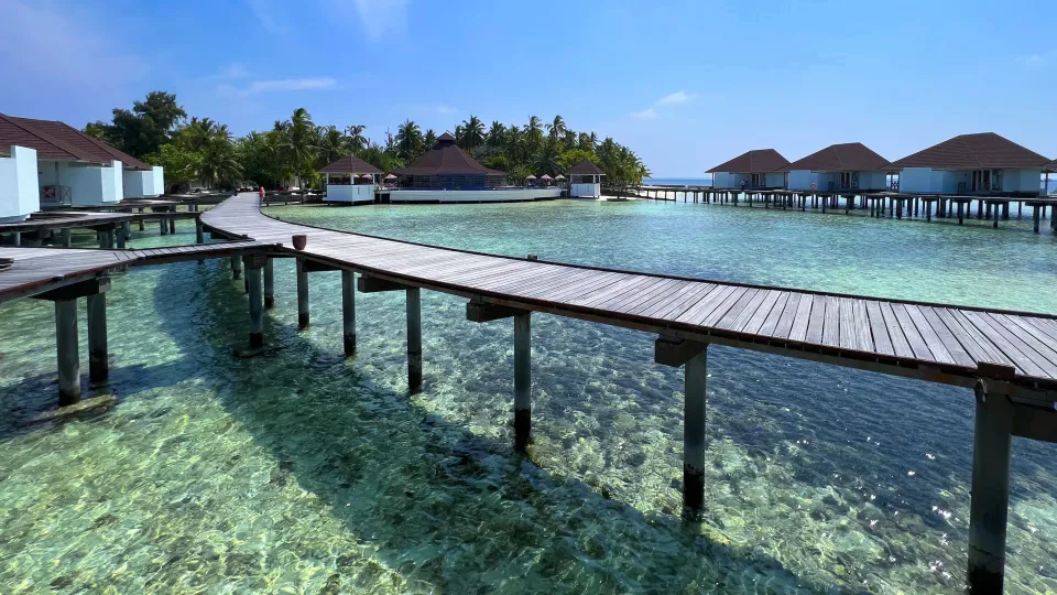
<path fill-rule="evenodd" d="M 487 190 L 506 185 L 506 173 L 486 167 L 445 132 L 411 165 L 396 170 L 399 185 L 414 190 Z"/>

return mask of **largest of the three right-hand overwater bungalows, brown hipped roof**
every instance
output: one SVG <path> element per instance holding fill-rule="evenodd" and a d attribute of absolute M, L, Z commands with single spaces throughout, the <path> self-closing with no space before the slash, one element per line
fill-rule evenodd
<path fill-rule="evenodd" d="M 1039 193 L 1043 155 L 994 132 L 960 134 L 889 164 L 900 192 L 1029 196 Z"/>

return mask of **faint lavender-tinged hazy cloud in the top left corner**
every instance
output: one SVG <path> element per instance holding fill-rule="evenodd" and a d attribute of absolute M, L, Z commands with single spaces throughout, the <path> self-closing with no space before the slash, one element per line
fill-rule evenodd
<path fill-rule="evenodd" d="M 4 0 L 0 7 L 4 36 L 0 68 L 6 78 L 59 86 L 66 93 L 112 90 L 116 84 L 141 79 L 146 62 L 124 53 L 96 33 L 90 14 L 47 0 Z M 76 88 L 72 88 L 76 87 Z"/>

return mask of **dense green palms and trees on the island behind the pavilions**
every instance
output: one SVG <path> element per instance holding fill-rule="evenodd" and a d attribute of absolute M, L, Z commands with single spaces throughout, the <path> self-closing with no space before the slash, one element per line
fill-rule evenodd
<path fill-rule="evenodd" d="M 240 183 L 277 187 L 309 187 L 318 171 L 337 159 L 355 154 L 385 173 L 408 165 L 437 142 L 437 132 L 405 120 L 383 142 L 369 139 L 361 125 L 317 126 L 304 108 L 270 130 L 236 138 L 228 127 L 209 118 L 187 117 L 176 96 L 153 91 L 131 110 L 116 108 L 112 120 L 96 121 L 85 132 L 149 163 L 165 167 L 167 190 L 200 183 L 227 188 Z M 650 175 L 631 149 L 595 132 L 577 132 L 560 116 L 543 122 L 536 116 L 522 126 L 493 121 L 486 128 L 477 116 L 455 127 L 456 143 L 488 167 L 504 171 L 512 182 L 527 175 L 552 177 L 582 160 L 597 164 L 607 182 L 638 184 Z"/>

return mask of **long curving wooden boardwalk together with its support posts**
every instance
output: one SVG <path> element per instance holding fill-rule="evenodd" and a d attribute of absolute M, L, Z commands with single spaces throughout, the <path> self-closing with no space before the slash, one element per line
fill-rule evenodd
<path fill-rule="evenodd" d="M 231 263 L 236 278 L 246 267 L 251 348 L 264 343 L 262 311 L 272 305 L 274 258 L 296 259 L 302 328 L 309 324 L 309 274 L 341 271 L 348 355 L 356 350 L 355 291 L 404 292 L 412 392 L 422 386 L 421 290 L 467 299 L 467 317 L 475 322 L 513 318 L 514 440 L 519 450 L 526 447 L 531 432 L 532 312 L 655 334 L 655 361 L 684 367 L 683 489 L 690 512 L 704 504 L 706 367 L 711 344 L 972 388 L 976 431 L 968 581 L 974 593 L 1002 591 L 1012 437 L 1057 442 L 1054 315 L 879 300 L 438 248 L 281 221 L 261 214 L 260 199 L 249 194 L 201 213 L 198 226 L 199 241 L 203 230 L 209 230 L 214 236 L 250 242 L 246 246 L 252 253 L 235 257 Z M 294 242 L 302 239 L 305 245 L 298 250 Z M 209 245 L 207 249 L 217 248 Z M 98 267 L 94 262 L 86 260 L 85 269 Z M 4 274 L 0 272 L 0 288 Z M 63 321 L 68 318 L 56 305 L 61 345 L 64 325 L 68 326 Z M 58 359 L 62 385 L 66 365 L 62 348 Z"/>

